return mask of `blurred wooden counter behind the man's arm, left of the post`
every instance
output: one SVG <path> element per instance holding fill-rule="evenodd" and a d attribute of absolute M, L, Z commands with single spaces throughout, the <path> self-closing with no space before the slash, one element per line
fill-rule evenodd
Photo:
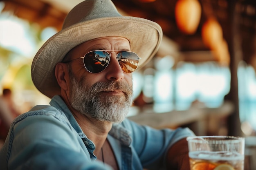
<path fill-rule="evenodd" d="M 233 109 L 234 106 L 230 102 L 224 102 L 218 108 L 206 108 L 195 104 L 188 110 L 173 110 L 166 113 L 155 113 L 152 108 L 151 112 L 148 110 L 142 111 L 142 113 L 128 116 L 128 119 L 157 129 L 177 128 L 192 124 L 190 128 L 196 135 L 206 135 L 209 128 L 209 119 L 218 120 L 222 117 L 227 117 Z"/>

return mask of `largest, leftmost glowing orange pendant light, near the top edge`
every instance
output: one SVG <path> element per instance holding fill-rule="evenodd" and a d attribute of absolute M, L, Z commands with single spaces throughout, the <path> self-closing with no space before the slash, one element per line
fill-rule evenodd
<path fill-rule="evenodd" d="M 175 20 L 180 31 L 193 34 L 201 19 L 201 4 L 198 0 L 178 0 L 175 5 Z"/>

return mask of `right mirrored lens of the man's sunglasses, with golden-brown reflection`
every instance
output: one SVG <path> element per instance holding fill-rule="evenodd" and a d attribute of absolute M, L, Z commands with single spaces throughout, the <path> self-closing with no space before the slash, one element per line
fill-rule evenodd
<path fill-rule="evenodd" d="M 117 59 L 122 70 L 125 73 L 132 73 L 139 65 L 139 57 L 131 51 L 121 51 L 117 55 Z"/>

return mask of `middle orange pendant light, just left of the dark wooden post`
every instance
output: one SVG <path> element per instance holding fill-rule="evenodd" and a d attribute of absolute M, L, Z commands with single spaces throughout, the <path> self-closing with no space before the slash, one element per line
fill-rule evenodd
<path fill-rule="evenodd" d="M 210 49 L 214 49 L 217 44 L 222 43 L 222 28 L 215 18 L 209 18 L 204 22 L 201 33 L 205 46 Z"/>

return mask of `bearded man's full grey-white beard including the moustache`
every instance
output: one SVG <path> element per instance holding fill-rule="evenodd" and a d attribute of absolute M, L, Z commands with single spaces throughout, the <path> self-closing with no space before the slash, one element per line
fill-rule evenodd
<path fill-rule="evenodd" d="M 90 88 L 85 86 L 86 81 L 81 78 L 76 81 L 70 74 L 71 106 L 81 114 L 95 118 L 99 121 L 121 123 L 126 118 L 132 104 L 132 86 L 124 82 L 98 82 Z M 124 95 L 106 95 L 101 92 L 121 90 Z"/>

